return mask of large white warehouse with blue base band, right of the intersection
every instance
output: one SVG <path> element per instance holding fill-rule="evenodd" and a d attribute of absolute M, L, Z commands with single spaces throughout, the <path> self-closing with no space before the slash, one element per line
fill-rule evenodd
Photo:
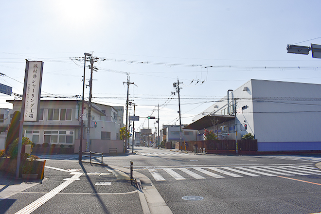
<path fill-rule="evenodd" d="M 219 139 L 254 135 L 258 151 L 321 151 L 321 85 L 250 80 L 214 103 L 185 129 Z"/>

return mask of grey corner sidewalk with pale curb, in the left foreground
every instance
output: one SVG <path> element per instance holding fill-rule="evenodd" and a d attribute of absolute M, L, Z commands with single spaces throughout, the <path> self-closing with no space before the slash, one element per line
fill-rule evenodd
<path fill-rule="evenodd" d="M 125 212 L 172 214 L 151 180 L 141 173 L 133 172 L 134 179 L 133 185 L 131 185 L 130 170 L 126 168 L 100 166 L 89 163 L 81 164 L 78 161 L 54 160 L 50 162 L 47 160 L 47 163 L 45 178 L 42 180 L 42 184 L 40 184 L 41 180 L 25 180 L 22 178 L 15 178 L 14 175 L 8 175 L 5 172 L 0 172 L 1 214 L 16 213 L 18 211 L 24 213 L 23 209 L 26 209 L 28 206 L 28 209 L 30 209 L 31 206 L 34 210 L 37 209 L 37 213 L 41 213 L 45 208 L 54 207 L 54 204 L 52 204 L 53 201 L 61 201 L 61 206 L 64 206 L 64 203 L 67 203 L 64 199 L 66 194 L 71 194 L 75 197 L 81 196 L 80 200 L 83 200 L 84 202 L 75 201 L 76 203 L 80 203 L 77 207 L 86 204 L 88 197 L 97 197 L 99 202 L 96 201 L 96 204 L 94 203 L 91 206 L 96 206 L 98 208 L 106 206 L 108 208 L 107 213 L 117 213 L 117 209 L 119 212 L 121 207 Z M 72 169 L 78 170 L 72 171 Z M 105 173 L 98 173 L 98 175 L 97 172 Z M 79 174 L 79 181 L 77 181 L 77 179 L 69 181 L 70 184 L 65 188 L 61 188 L 54 196 L 51 196 L 50 199 L 48 199 L 48 202 L 41 203 L 41 200 L 43 200 L 41 198 L 48 197 L 46 195 L 48 195 L 49 192 L 52 192 L 59 188 L 59 186 L 68 182 L 64 182 L 63 178 L 74 177 L 76 174 Z M 57 183 L 57 180 L 60 180 L 60 182 Z M 96 186 L 97 183 L 98 186 Z M 99 186 L 100 184 L 105 185 L 106 183 L 111 183 L 111 185 L 109 184 L 109 186 L 105 187 Z M 39 197 L 39 194 L 45 195 L 40 195 Z M 35 199 L 31 201 L 29 196 L 37 196 L 36 201 Z M 29 200 L 25 201 L 26 198 Z M 128 200 L 129 198 L 131 199 Z M 121 206 L 120 200 L 126 200 L 128 206 Z M 70 202 L 65 205 L 66 208 L 64 209 L 67 209 L 70 213 L 77 213 L 77 208 L 71 208 L 69 203 Z M 139 204 L 141 204 L 141 206 L 139 206 Z M 84 209 L 86 210 L 86 208 L 87 210 L 90 210 L 90 206 L 87 205 Z M 105 212 L 106 210 L 104 209 L 101 208 L 100 212 Z M 81 212 L 83 212 L 83 210 L 78 211 L 78 213 Z M 46 213 L 48 212 L 46 211 Z"/>

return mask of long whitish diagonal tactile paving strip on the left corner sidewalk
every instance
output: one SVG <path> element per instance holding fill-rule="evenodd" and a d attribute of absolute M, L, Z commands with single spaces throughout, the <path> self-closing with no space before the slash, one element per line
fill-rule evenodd
<path fill-rule="evenodd" d="M 46 203 L 48 200 L 50 200 L 51 198 L 53 198 L 55 195 L 57 195 L 60 191 L 62 191 L 63 189 L 65 189 L 69 184 L 71 184 L 73 181 L 75 181 L 77 178 L 79 178 L 80 176 L 82 176 L 82 173 L 77 173 L 75 175 L 73 175 L 69 180 L 63 182 L 62 184 L 60 184 L 59 186 L 57 186 L 56 188 L 54 188 L 53 190 L 51 190 L 49 193 L 45 194 L 44 196 L 39 197 L 38 199 L 36 199 L 34 202 L 32 202 L 31 204 L 29 204 L 28 206 L 22 208 L 21 210 L 19 210 L 17 213 L 15 214 L 31 214 L 32 212 L 34 212 L 38 207 L 40 207 L 41 205 L 43 205 L 44 203 Z"/>

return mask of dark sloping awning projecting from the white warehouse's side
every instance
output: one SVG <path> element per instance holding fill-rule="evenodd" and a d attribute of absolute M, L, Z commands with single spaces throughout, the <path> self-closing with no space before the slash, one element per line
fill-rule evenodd
<path fill-rule="evenodd" d="M 234 119 L 235 116 L 233 115 L 206 115 L 194 123 L 185 126 L 184 129 L 202 130 L 204 128 L 214 126 L 214 120 L 215 124 L 222 124 Z"/>

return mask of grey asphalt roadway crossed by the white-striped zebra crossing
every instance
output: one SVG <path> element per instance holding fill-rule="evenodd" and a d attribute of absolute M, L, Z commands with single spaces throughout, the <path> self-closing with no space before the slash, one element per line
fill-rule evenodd
<path fill-rule="evenodd" d="M 321 170 L 315 167 L 320 155 L 194 155 L 146 147 L 135 151 L 137 155 L 127 157 L 134 170 L 152 180 L 174 214 L 321 212 Z M 116 158 L 110 164 L 128 165 Z"/>

